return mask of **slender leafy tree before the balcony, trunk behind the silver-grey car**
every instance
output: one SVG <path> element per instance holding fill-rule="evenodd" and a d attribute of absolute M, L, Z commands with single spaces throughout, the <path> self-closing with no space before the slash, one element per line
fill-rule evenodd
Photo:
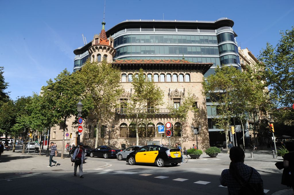
<path fill-rule="evenodd" d="M 157 112 L 156 107 L 163 105 L 163 91 L 150 79 L 146 80 L 143 69 L 133 76 L 134 94 L 127 104 L 127 115 L 136 129 L 136 145 L 139 145 L 139 125 L 148 124 L 148 118 Z M 147 127 L 145 127 L 146 129 Z"/>

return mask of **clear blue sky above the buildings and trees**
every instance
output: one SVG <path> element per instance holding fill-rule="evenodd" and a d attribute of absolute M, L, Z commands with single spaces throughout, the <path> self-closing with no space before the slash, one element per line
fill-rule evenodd
<path fill-rule="evenodd" d="M 73 51 L 101 31 L 104 0 L 0 0 L 0 66 L 12 100 L 39 94 L 46 81 L 74 67 Z M 294 26 L 293 0 L 106 0 L 105 30 L 126 19 L 234 21 L 238 45 L 256 57 Z"/>

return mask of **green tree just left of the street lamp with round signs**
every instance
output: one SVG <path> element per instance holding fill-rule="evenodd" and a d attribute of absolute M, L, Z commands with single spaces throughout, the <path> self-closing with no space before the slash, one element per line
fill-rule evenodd
<path fill-rule="evenodd" d="M 71 116 L 77 116 L 76 104 L 81 99 L 85 87 L 77 73 L 71 74 L 64 69 L 54 81 L 49 79 L 47 86 L 43 86 L 41 90 L 41 108 L 51 114 L 52 125 L 61 125 L 63 128 L 61 149 L 61 158 L 63 158 L 66 120 Z"/>

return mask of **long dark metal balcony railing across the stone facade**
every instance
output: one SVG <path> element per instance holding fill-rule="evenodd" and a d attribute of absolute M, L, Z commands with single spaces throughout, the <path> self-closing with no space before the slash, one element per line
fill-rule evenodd
<path fill-rule="evenodd" d="M 116 108 L 116 114 L 171 114 L 172 111 L 169 108 L 137 108 L 129 110 L 128 108 Z"/>

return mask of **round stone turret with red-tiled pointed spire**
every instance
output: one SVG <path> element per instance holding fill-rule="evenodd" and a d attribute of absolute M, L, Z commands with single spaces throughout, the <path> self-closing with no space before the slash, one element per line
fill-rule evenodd
<path fill-rule="evenodd" d="M 94 35 L 92 45 L 88 49 L 91 62 L 102 62 L 102 60 L 106 60 L 108 63 L 111 63 L 113 61 L 113 57 L 116 53 L 116 50 L 113 48 L 114 40 L 112 37 L 107 39 L 105 25 L 106 23 L 103 21 L 100 34 Z"/>

